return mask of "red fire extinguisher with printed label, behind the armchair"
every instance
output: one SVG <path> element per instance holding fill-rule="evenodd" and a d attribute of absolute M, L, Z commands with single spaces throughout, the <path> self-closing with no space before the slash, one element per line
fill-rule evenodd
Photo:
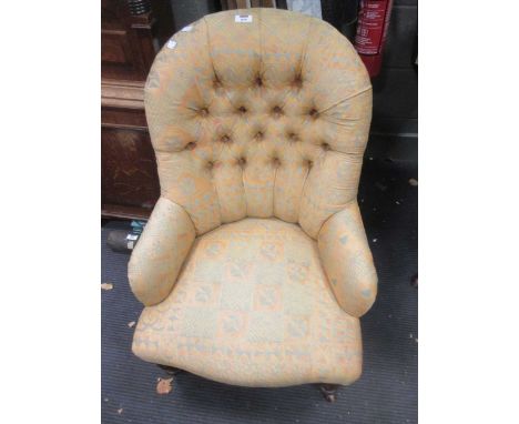
<path fill-rule="evenodd" d="M 372 78 L 380 72 L 391 8 L 393 0 L 360 0 L 355 49 Z"/>

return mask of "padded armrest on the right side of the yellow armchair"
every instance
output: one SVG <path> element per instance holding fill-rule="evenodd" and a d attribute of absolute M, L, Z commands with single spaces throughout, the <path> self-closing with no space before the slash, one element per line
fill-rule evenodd
<path fill-rule="evenodd" d="M 325 222 L 317 243 L 337 303 L 349 315 L 364 315 L 377 295 L 377 273 L 356 201 Z"/>

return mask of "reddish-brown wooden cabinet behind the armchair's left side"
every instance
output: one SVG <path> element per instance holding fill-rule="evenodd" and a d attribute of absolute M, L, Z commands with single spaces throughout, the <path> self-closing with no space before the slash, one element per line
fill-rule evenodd
<path fill-rule="evenodd" d="M 143 90 L 156 52 L 174 33 L 169 7 L 167 0 L 101 2 L 103 216 L 145 219 L 160 195 Z"/>

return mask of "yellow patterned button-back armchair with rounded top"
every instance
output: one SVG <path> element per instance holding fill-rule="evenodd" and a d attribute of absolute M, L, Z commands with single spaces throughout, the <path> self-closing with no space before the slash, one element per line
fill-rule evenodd
<path fill-rule="evenodd" d="M 145 110 L 161 198 L 129 264 L 133 352 L 234 385 L 356 381 L 377 276 L 352 44 L 289 11 L 211 14 L 157 54 Z"/>

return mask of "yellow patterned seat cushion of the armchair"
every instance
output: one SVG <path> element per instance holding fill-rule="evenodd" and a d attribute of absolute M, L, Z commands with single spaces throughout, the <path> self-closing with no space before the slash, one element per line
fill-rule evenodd
<path fill-rule="evenodd" d="M 169 297 L 142 312 L 133 352 L 244 386 L 349 384 L 362 370 L 359 322 L 338 306 L 315 241 L 276 219 L 197 238 Z"/>

